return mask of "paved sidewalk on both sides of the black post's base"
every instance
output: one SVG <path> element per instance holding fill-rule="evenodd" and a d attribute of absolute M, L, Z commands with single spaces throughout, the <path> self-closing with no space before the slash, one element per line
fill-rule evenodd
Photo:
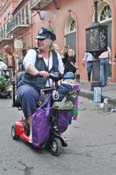
<path fill-rule="evenodd" d="M 79 95 L 93 100 L 91 83 L 86 80 L 81 80 Z M 102 87 L 102 97 L 103 99 L 108 98 L 108 102 L 116 108 L 116 83 L 108 83 L 106 87 Z"/>

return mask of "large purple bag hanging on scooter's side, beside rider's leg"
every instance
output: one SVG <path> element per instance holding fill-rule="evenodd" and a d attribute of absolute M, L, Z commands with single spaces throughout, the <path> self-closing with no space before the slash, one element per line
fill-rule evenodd
<path fill-rule="evenodd" d="M 51 129 L 50 111 L 51 95 L 32 115 L 32 144 L 35 147 L 45 143 L 49 137 Z"/>

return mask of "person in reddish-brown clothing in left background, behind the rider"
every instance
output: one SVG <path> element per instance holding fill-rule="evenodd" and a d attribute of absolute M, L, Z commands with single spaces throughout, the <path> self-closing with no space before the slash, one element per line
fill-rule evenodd
<path fill-rule="evenodd" d="M 7 64 L 9 74 L 10 74 L 10 80 L 13 80 L 13 77 L 15 77 L 16 74 L 16 68 L 17 68 L 17 56 L 13 53 L 11 47 L 9 45 L 6 45 L 4 47 L 4 51 L 6 53 L 5 56 L 5 62 Z"/>

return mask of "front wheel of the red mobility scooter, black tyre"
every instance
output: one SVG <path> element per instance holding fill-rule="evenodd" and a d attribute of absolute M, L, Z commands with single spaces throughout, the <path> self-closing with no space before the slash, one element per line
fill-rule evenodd
<path fill-rule="evenodd" d="M 52 138 L 49 144 L 49 149 L 54 156 L 59 156 L 62 152 L 62 143 L 60 138 Z"/>

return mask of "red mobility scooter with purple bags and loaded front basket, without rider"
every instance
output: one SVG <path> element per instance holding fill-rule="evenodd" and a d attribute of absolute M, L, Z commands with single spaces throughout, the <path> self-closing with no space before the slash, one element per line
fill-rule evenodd
<path fill-rule="evenodd" d="M 32 145 L 39 149 L 47 147 L 53 155 L 59 156 L 62 146 L 67 146 L 61 133 L 71 124 L 72 118 L 77 118 L 79 85 L 72 72 L 64 75 L 60 85 L 57 83 L 57 72 L 50 73 L 49 77 L 55 82 L 55 86 L 41 90 L 38 108 L 32 116 Z M 15 96 L 15 83 L 13 107 L 21 107 Z M 25 119 L 20 119 L 11 127 L 14 140 L 21 138 L 29 142 L 29 134 L 29 125 Z"/>

